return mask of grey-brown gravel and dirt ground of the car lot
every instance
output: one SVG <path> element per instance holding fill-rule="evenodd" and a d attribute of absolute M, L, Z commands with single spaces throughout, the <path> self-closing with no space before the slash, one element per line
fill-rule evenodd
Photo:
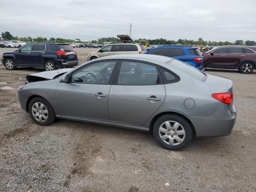
<path fill-rule="evenodd" d="M 14 49 L 0 48 L 0 55 L 8 50 Z M 80 61 L 93 50 L 77 48 Z M 256 191 L 256 71 L 206 70 L 234 82 L 234 132 L 194 139 L 177 152 L 145 132 L 68 120 L 34 124 L 16 89 L 40 71 L 0 65 L 1 192 Z"/>

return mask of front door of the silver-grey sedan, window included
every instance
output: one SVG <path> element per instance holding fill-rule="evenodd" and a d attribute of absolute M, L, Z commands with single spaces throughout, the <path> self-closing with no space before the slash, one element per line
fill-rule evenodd
<path fill-rule="evenodd" d="M 108 94 L 116 60 L 94 62 L 72 73 L 69 83 L 56 89 L 62 117 L 109 122 Z"/>

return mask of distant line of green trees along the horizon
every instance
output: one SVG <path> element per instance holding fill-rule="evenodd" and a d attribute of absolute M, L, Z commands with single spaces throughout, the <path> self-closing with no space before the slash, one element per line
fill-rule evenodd
<path fill-rule="evenodd" d="M 19 40 L 19 41 L 51 41 L 51 42 L 82 42 L 80 39 L 76 38 L 75 40 L 72 39 L 64 39 L 64 38 L 53 38 L 51 37 L 49 40 L 46 37 L 37 37 L 37 38 L 32 38 L 32 37 L 18 37 L 18 36 L 12 36 L 10 32 L 2 32 L 2 38 L 4 40 Z M 163 38 L 157 38 L 157 39 L 137 39 L 134 40 L 134 43 L 138 43 L 140 40 L 147 40 L 150 45 L 175 45 L 175 44 L 197 44 L 197 45 L 208 45 L 208 46 L 223 46 L 223 45 L 247 45 L 247 46 L 253 46 L 256 45 L 255 41 L 243 41 L 243 40 L 236 40 L 234 42 L 216 42 L 216 41 L 210 41 L 210 40 L 203 40 L 202 38 L 198 38 L 198 40 L 187 40 L 187 39 L 178 39 L 178 40 L 166 40 Z M 103 42 L 112 42 L 112 43 L 117 43 L 118 39 L 116 37 L 107 37 L 107 38 L 98 38 L 98 40 L 92 40 L 90 41 L 91 43 L 98 43 L 102 44 Z"/>

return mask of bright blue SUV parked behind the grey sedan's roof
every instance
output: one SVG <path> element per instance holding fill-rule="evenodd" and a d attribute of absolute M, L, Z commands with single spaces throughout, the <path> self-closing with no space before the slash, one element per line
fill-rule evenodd
<path fill-rule="evenodd" d="M 199 70 L 203 70 L 203 56 L 197 47 L 185 45 L 165 45 L 150 49 L 144 54 L 172 57 L 190 64 Z"/>

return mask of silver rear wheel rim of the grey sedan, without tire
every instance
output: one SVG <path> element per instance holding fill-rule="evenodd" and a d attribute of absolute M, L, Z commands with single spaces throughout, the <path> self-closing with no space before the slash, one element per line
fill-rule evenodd
<path fill-rule="evenodd" d="M 185 139 L 185 130 L 182 125 L 176 121 L 163 122 L 158 132 L 161 140 L 171 146 L 179 145 Z"/>

